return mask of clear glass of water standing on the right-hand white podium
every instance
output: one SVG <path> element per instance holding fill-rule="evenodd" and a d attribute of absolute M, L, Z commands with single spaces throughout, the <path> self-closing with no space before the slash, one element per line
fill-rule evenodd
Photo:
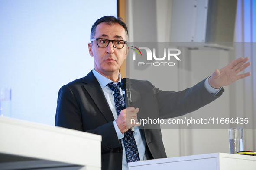
<path fill-rule="evenodd" d="M 229 153 L 243 151 L 243 128 L 229 128 Z"/>

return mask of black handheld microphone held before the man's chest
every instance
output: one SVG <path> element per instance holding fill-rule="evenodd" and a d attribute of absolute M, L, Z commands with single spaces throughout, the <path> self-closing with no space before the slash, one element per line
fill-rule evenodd
<path fill-rule="evenodd" d="M 132 106 L 132 94 L 131 94 L 131 80 L 129 78 L 123 78 L 121 80 L 121 88 L 123 90 L 123 97 L 126 108 Z M 129 129 L 130 132 L 134 132 L 134 127 Z"/>

